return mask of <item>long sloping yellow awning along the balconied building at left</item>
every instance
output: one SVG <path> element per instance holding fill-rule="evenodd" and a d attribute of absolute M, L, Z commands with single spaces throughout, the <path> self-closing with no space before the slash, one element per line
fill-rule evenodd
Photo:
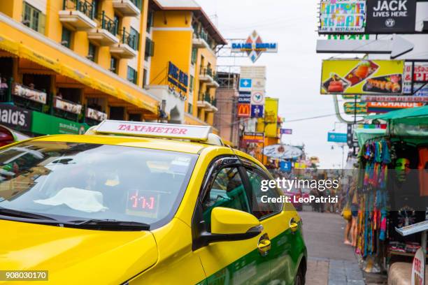
<path fill-rule="evenodd" d="M 0 17 L 3 17 L 3 15 L 0 15 Z M 14 54 L 17 57 L 33 61 L 60 75 L 76 80 L 87 87 L 97 89 L 138 108 L 157 114 L 159 100 L 145 94 L 143 89 L 130 87 L 121 80 L 114 78 L 113 75 L 106 75 L 106 73 L 101 73 L 97 68 L 87 65 L 83 62 L 84 60 L 78 59 L 76 56 L 70 57 L 69 54 L 60 50 L 62 46 L 54 46 L 57 43 L 50 43 L 48 39 L 43 39 L 43 41 L 37 43 L 26 43 L 26 40 L 31 42 L 37 40 L 34 36 L 31 36 L 31 33 L 34 31 L 27 31 L 27 27 L 18 27 L 15 29 L 15 27 L 9 26 L 2 29 L 2 24 L 0 24 L 0 50 L 6 50 L 6 52 Z M 18 35 L 8 36 L 6 32 L 11 35 Z M 13 38 L 17 38 L 19 41 L 15 41 Z"/>

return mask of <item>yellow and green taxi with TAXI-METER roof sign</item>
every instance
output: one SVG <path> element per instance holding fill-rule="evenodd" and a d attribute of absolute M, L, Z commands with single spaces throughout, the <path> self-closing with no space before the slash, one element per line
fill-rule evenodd
<path fill-rule="evenodd" d="M 0 284 L 304 284 L 299 215 L 210 132 L 106 120 L 1 148 Z"/>

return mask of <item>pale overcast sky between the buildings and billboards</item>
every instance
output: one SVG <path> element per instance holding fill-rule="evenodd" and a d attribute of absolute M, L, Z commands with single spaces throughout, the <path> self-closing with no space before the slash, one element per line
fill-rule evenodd
<path fill-rule="evenodd" d="M 264 42 L 277 42 L 278 54 L 265 53 L 256 61 L 267 66 L 266 96 L 280 98 L 279 115 L 286 121 L 334 114 L 331 95 L 320 95 L 321 61 L 334 54 L 316 54 L 318 0 L 197 0 L 224 38 L 247 38 L 255 29 Z M 221 59 L 218 64 L 224 63 Z M 251 65 L 236 59 L 236 65 Z M 342 103 L 343 104 L 343 103 Z M 283 142 L 304 143 L 309 156 L 320 157 L 322 168 L 339 168 L 342 149 L 327 142 L 335 115 L 283 124 L 293 134 Z M 345 124 L 336 124 L 345 133 Z M 331 146 L 334 145 L 334 149 Z M 345 147 L 345 159 L 348 147 Z"/>

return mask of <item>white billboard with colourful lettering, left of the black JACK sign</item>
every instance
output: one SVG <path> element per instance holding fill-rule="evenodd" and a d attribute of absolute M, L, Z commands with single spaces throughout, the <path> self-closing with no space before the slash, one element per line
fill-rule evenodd
<path fill-rule="evenodd" d="M 364 33 L 366 1 L 331 1 L 320 3 L 319 34 Z"/>

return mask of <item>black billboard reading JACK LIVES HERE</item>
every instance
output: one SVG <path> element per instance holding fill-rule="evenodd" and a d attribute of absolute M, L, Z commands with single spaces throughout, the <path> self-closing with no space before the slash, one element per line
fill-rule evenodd
<path fill-rule="evenodd" d="M 416 0 L 367 1 L 366 32 L 369 34 L 413 33 Z"/>

